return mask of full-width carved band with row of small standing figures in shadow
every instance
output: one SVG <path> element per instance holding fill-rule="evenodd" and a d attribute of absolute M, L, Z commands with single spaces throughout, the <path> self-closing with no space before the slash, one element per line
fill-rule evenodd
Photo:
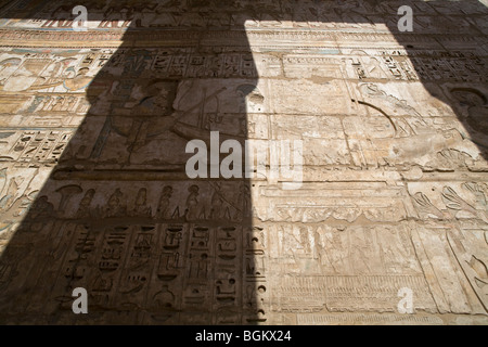
<path fill-rule="evenodd" d="M 16 171 L 16 174 L 15 174 Z M 49 169 L 1 169 L 1 209 L 5 228 L 23 216 L 35 201 Z M 452 221 L 488 220 L 486 183 L 409 182 L 407 187 L 384 182 L 304 183 L 297 191 L 256 182 L 167 181 L 139 182 L 129 189 L 116 182 L 56 181 L 37 196 L 33 219 L 55 216 L 84 218 L 155 218 L 160 220 L 231 220 L 254 216 L 261 221 L 354 222 L 407 219 Z M 254 194 L 252 196 L 252 194 Z M 370 198 L 360 200 L 361 196 Z M 313 197 L 313 198 L 312 198 Z M 255 202 L 252 205 L 252 198 Z"/>

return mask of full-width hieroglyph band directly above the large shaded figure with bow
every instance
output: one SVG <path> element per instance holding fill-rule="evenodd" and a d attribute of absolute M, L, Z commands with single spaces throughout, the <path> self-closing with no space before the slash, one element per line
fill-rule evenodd
<path fill-rule="evenodd" d="M 128 50 L 2 50 L 0 86 L 4 91 L 80 93 L 103 67 L 105 78 L 350 78 L 364 81 L 484 81 L 483 57 L 425 52 L 412 56 L 396 50 L 342 49 L 316 54 L 196 53 L 189 48 Z M 217 55 L 216 55 L 217 53 Z M 413 54 L 413 53 L 412 53 Z M 326 55 L 326 56 L 324 56 Z M 414 69 L 423 66 L 422 69 Z M 254 66 L 256 64 L 256 67 Z M 255 70 L 255 68 L 257 70 Z M 22 80 L 22 83 L 21 83 Z M 34 112 L 34 111 L 33 111 Z"/>

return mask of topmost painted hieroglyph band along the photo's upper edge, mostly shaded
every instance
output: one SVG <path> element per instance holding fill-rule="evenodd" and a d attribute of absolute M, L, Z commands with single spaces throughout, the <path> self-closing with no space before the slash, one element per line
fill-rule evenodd
<path fill-rule="evenodd" d="M 73 29 L 75 15 L 73 8 L 67 4 L 48 4 L 41 10 L 42 20 L 12 21 L 8 27 L 22 28 L 50 28 Z M 344 29 L 362 28 L 370 30 L 385 30 L 386 26 L 396 27 L 398 22 L 398 3 L 370 3 L 358 4 L 355 1 L 307 1 L 299 5 L 291 0 L 259 2 L 259 1 L 169 1 L 165 3 L 150 1 L 144 4 L 107 4 L 97 1 L 84 1 L 89 14 L 88 27 L 102 29 L 125 29 L 132 27 L 227 27 L 246 22 L 247 27 L 264 28 L 323 28 Z M 210 11 L 218 8 L 219 13 Z M 460 17 L 455 5 L 441 7 L 436 4 L 435 10 L 428 2 L 416 1 L 411 3 L 415 15 L 414 24 L 424 31 L 445 29 L 455 18 L 459 26 L 454 33 L 470 30 L 470 22 Z M 181 9 L 190 8 L 192 11 L 182 15 Z M 22 9 L 12 5 L 12 11 Z M 440 9 L 440 10 L 439 10 Z M 472 7 L 471 18 L 483 23 L 479 15 L 486 14 L 481 7 Z M 463 13 L 466 10 L 463 8 Z M 435 21 L 433 21 L 435 17 Z M 471 20 L 470 18 L 470 20 Z M 448 26 L 449 27 L 449 26 Z"/>

